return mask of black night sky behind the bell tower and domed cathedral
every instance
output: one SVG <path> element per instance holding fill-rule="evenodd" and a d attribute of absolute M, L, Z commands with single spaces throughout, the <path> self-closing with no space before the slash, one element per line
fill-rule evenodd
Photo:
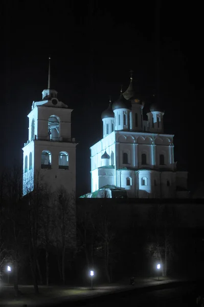
<path fill-rule="evenodd" d="M 33 100 L 51 84 L 73 108 L 77 192 L 90 190 L 89 147 L 102 137 L 101 112 L 117 99 L 133 69 L 141 92 L 155 93 L 155 3 L 10 1 L 1 9 L 1 162 L 22 161 Z M 66 3 L 66 6 L 65 6 Z M 203 99 L 201 8 L 165 2 L 160 11 L 160 99 L 165 133 L 175 134 L 174 155 L 190 183 L 201 180 Z M 145 110 L 148 110 L 146 105 Z M 199 144 L 199 145 L 198 145 Z M 196 149 L 196 146 L 197 147 Z"/>

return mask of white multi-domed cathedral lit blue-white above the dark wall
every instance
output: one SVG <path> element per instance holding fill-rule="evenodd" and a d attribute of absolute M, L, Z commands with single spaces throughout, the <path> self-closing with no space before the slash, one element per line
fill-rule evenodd
<path fill-rule="evenodd" d="M 112 187 L 128 198 L 187 198 L 188 172 L 176 169 L 164 110 L 154 101 L 143 120 L 144 104 L 131 74 L 127 90 L 101 115 L 103 139 L 90 147 L 92 193 Z"/>

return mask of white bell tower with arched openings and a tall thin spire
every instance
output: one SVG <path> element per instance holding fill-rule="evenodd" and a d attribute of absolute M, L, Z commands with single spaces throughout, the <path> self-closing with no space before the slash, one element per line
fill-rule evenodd
<path fill-rule="evenodd" d="M 42 100 L 33 101 L 29 118 L 29 137 L 24 144 L 23 194 L 34 189 L 35 178 L 52 190 L 63 186 L 67 192 L 76 190 L 76 142 L 71 136 L 72 109 L 59 101 L 57 91 L 48 89 Z M 37 176 L 39 174 L 39 176 Z"/>

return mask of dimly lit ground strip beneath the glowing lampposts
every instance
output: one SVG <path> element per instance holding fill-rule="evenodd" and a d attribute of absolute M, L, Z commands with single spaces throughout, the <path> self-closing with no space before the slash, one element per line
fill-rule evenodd
<path fill-rule="evenodd" d="M 39 295 L 34 294 L 33 286 L 19 286 L 22 295 L 18 298 L 15 297 L 13 286 L 2 284 L 0 286 L 0 301 L 2 306 L 28 306 L 42 305 L 55 303 L 65 300 L 84 300 L 86 298 L 93 298 L 101 295 L 108 295 L 110 293 L 125 292 L 141 287 L 158 286 L 171 282 L 179 281 L 178 279 L 170 279 L 161 277 L 158 278 L 137 278 L 135 285 L 129 285 L 129 280 L 121 280 L 120 283 L 115 284 L 94 284 L 94 289 L 90 287 L 67 287 L 67 286 L 39 286 Z"/>

